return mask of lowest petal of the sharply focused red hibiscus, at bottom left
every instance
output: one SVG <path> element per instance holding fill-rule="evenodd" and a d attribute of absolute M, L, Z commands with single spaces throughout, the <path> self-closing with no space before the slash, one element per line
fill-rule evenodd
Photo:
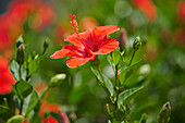
<path fill-rule="evenodd" d="M 90 58 L 84 58 L 78 56 L 72 56 L 71 58 L 66 59 L 66 65 L 69 67 L 77 67 L 78 65 L 84 65 L 86 62 L 90 60 L 95 60 L 96 56 L 92 56 Z"/>

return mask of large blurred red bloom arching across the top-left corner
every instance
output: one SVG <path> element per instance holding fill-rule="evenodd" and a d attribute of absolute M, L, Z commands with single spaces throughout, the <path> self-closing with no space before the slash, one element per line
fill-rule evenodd
<path fill-rule="evenodd" d="M 11 48 L 17 37 L 24 34 L 23 23 L 35 15 L 30 27 L 41 30 L 54 20 L 52 8 L 41 0 L 14 0 L 7 13 L 0 16 L 0 50 Z"/>

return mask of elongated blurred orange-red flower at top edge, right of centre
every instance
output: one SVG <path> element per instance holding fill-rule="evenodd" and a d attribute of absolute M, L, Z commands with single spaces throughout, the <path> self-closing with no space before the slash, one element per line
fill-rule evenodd
<path fill-rule="evenodd" d="M 157 19 L 157 9 L 151 0 L 132 0 L 134 7 L 143 11 L 149 21 Z"/>

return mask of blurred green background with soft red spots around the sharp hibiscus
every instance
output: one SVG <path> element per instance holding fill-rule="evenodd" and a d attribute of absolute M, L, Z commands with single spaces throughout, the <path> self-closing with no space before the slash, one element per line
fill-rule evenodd
<path fill-rule="evenodd" d="M 132 122 L 147 113 L 147 123 L 156 123 L 160 108 L 169 101 L 172 107 L 170 123 L 185 123 L 185 10 L 180 9 L 180 3 L 183 4 L 185 1 L 44 0 L 44 2 L 49 3 L 55 13 L 52 23 L 36 32 L 29 25 L 30 16 L 23 27 L 26 52 L 41 52 L 46 39 L 50 45 L 47 50 L 48 59 L 32 76 L 32 83 L 34 85 L 47 83 L 55 73 L 67 74 L 66 81 L 49 93 L 47 98 L 49 102 L 60 103 L 62 110 L 75 123 L 107 122 L 106 103 L 110 102 L 110 99 L 98 86 L 89 69 L 90 63 L 70 69 L 65 64 L 65 58 L 60 60 L 49 58 L 66 44 L 63 42 L 63 38 L 74 33 L 70 26 L 69 15 L 75 14 L 81 32 L 103 25 L 118 25 L 124 28 L 126 36 L 124 40 L 120 40 L 120 32 L 112 34 L 111 37 L 124 41 L 122 45 L 126 44 L 126 49 L 131 48 L 137 35 L 146 39 L 144 47 L 146 53 L 143 56 L 145 64 L 140 66 L 138 73 L 143 72 L 148 77 L 144 82 L 145 89 L 131 102 Z M 8 0 L 0 1 L 0 7 L 3 7 L 0 8 L 1 14 L 9 10 L 9 4 Z M 100 59 L 104 74 L 112 78 L 107 57 L 100 56 Z M 132 77 L 128 87 L 137 85 L 139 79 L 141 78 Z"/>

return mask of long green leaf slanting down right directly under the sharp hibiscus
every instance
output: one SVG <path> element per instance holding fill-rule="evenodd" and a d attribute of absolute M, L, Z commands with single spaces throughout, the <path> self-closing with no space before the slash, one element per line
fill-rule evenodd
<path fill-rule="evenodd" d="M 90 67 L 90 69 L 92 71 L 92 73 L 95 74 L 95 76 L 97 77 L 97 79 L 99 81 L 99 84 L 106 89 L 106 91 L 108 91 L 110 94 L 110 96 L 113 96 L 114 89 L 113 89 L 112 82 L 106 75 L 102 74 L 103 79 L 106 82 L 106 83 L 103 83 L 103 79 L 101 78 L 100 73 L 97 70 L 95 70 L 94 67 Z"/>

